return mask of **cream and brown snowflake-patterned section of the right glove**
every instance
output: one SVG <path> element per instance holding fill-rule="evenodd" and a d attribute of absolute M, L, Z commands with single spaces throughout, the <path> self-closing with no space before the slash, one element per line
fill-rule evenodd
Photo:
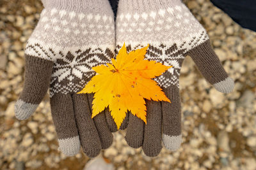
<path fill-rule="evenodd" d="M 120 3 L 123 8 L 116 18 L 117 50 L 124 41 L 131 50 L 145 47 L 149 43 L 146 59 L 173 66 L 155 80 L 161 87 L 175 85 L 179 88 L 182 62 L 189 50 L 209 39 L 205 29 L 179 1 L 173 1 L 162 9 L 156 5 L 150 6 L 147 10 L 141 10 L 143 13 L 126 6 L 129 3 Z"/>

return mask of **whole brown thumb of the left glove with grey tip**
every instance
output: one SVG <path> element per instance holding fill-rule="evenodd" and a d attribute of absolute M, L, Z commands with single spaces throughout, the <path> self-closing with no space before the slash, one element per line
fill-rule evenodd
<path fill-rule="evenodd" d="M 49 89 L 53 62 L 25 55 L 25 82 L 19 100 L 15 104 L 15 116 L 19 120 L 29 118 L 35 112 Z"/>

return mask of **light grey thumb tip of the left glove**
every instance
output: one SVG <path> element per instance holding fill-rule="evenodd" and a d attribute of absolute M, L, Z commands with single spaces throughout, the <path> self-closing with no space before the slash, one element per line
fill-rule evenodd
<path fill-rule="evenodd" d="M 15 117 L 19 120 L 26 120 L 35 112 L 37 106 L 38 104 L 26 103 L 19 99 L 15 103 Z"/>

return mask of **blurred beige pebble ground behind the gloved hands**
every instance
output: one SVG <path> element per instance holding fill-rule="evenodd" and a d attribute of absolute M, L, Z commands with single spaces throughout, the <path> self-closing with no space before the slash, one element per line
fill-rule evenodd
<path fill-rule="evenodd" d="M 183 143 L 178 152 L 165 149 L 146 157 L 116 132 L 102 155 L 123 169 L 256 169 L 256 33 L 242 29 L 209 0 L 187 0 L 209 32 L 212 46 L 236 80 L 231 94 L 207 83 L 190 57 L 182 67 Z M 39 19 L 42 4 L 33 0 L 0 1 L 0 169 L 83 169 L 81 152 L 67 158 L 58 152 L 49 96 L 28 121 L 14 117 L 24 80 L 24 46 Z"/>

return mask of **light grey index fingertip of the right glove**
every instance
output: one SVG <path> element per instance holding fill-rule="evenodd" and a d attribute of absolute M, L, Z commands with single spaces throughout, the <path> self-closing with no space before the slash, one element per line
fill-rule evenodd
<path fill-rule="evenodd" d="M 163 134 L 163 143 L 164 146 L 171 151 L 176 151 L 180 148 L 182 143 L 182 136 L 168 136 L 167 134 Z"/>

